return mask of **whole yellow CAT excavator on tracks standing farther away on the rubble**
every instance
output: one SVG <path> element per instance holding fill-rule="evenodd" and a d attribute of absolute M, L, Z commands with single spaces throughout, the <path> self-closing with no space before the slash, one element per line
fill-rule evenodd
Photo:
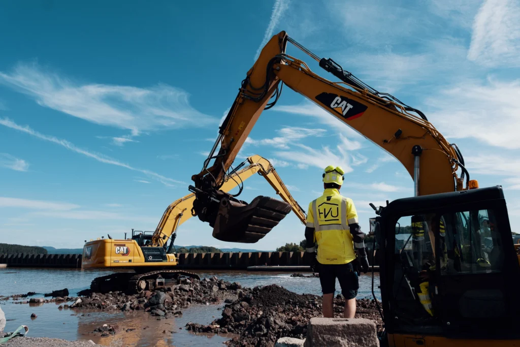
<path fill-rule="evenodd" d="M 246 166 L 245 166 L 246 165 Z M 226 177 L 220 187 L 223 191 L 230 191 L 239 186 L 243 189 L 243 182 L 258 173 L 275 189 L 276 194 L 287 202 L 296 216 L 306 223 L 306 213 L 292 197 L 287 187 L 271 163 L 261 156 L 251 156 L 234 169 Z M 124 239 L 97 239 L 85 242 L 81 267 L 88 268 L 129 268 L 134 272 L 115 273 L 97 277 L 90 284 L 94 292 L 108 292 L 123 290 L 140 292 L 152 290 L 168 285 L 170 281 L 177 281 L 179 276 L 199 276 L 194 273 L 175 270 L 177 258 L 174 252 L 174 241 L 178 227 L 192 217 L 194 194 L 189 194 L 174 201 L 164 211 L 164 214 L 154 232 L 141 232 L 132 229 L 132 237 Z M 168 243 L 169 241 L 169 243 Z"/>

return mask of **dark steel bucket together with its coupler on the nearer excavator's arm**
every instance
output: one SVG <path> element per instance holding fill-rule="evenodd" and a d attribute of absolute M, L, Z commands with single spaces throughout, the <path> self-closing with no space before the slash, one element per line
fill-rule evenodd
<path fill-rule="evenodd" d="M 189 186 L 196 199 L 192 215 L 213 227 L 220 241 L 255 243 L 291 212 L 291 205 L 271 197 L 257 196 L 247 203 L 222 190 L 202 191 Z"/>

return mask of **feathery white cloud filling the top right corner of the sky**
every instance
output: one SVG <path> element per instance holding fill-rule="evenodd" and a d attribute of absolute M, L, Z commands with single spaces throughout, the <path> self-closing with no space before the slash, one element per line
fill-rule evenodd
<path fill-rule="evenodd" d="M 520 4 L 486 0 L 473 23 L 467 58 L 484 66 L 520 66 Z"/>

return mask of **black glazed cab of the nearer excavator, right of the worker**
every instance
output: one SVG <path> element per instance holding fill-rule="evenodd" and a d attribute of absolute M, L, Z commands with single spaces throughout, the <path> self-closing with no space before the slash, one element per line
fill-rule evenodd
<path fill-rule="evenodd" d="M 376 224 L 385 329 L 394 345 L 520 341 L 520 266 L 501 187 L 395 200 Z"/>

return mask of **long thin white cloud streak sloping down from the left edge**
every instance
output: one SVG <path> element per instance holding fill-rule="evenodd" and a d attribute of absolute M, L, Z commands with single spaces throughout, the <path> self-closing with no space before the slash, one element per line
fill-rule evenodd
<path fill-rule="evenodd" d="M 161 182 L 165 186 L 173 187 L 174 183 L 186 184 L 185 182 L 176 181 L 175 179 L 162 176 L 162 175 L 160 175 L 158 173 L 155 173 L 155 172 L 152 172 L 152 171 L 149 171 L 149 170 L 142 170 L 142 169 L 134 168 L 131 165 L 122 163 L 122 162 L 120 162 L 120 161 L 118 161 L 116 159 L 112 159 L 110 157 L 107 157 L 107 156 L 104 156 L 104 155 L 101 155 L 101 154 L 98 154 L 98 153 L 89 152 L 89 151 L 87 151 L 85 149 L 81 149 L 79 147 L 76 147 L 74 144 L 70 143 L 67 140 L 63 140 L 63 139 L 59 139 L 59 138 L 54 137 L 54 136 L 49 136 L 49 135 L 44 135 L 44 134 L 38 133 L 37 131 L 35 131 L 32 128 L 30 128 L 28 125 L 25 125 L 25 126 L 18 125 L 18 124 L 16 124 L 15 122 L 11 121 L 8 118 L 0 119 L 0 125 L 4 125 L 4 126 L 12 128 L 12 129 L 24 132 L 26 134 L 35 136 L 35 137 L 40 138 L 42 140 L 45 140 L 45 141 L 48 141 L 48 142 L 51 142 L 51 143 L 63 146 L 65 148 L 67 148 L 68 150 L 71 150 L 71 151 L 76 152 L 76 153 L 80 153 L 80 154 L 82 154 L 82 155 L 84 155 L 86 157 L 95 159 L 95 160 L 97 160 L 99 162 L 102 162 L 102 163 L 116 165 L 116 166 L 121 166 L 122 168 L 125 168 L 125 169 L 128 169 L 128 170 L 144 173 L 145 175 L 148 175 L 148 176 L 150 176 L 150 177 L 152 177 L 154 179 L 157 179 L 159 182 Z"/>

